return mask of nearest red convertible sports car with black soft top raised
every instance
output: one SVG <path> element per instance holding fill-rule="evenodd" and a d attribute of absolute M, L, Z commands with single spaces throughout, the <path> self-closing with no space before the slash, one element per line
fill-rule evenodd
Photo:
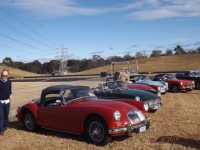
<path fill-rule="evenodd" d="M 86 86 L 57 85 L 18 108 L 16 116 L 28 131 L 43 127 L 85 135 L 89 142 L 105 145 L 114 136 L 131 136 L 149 128 L 142 103 L 138 102 L 138 109 L 128 100 L 97 99 Z"/>

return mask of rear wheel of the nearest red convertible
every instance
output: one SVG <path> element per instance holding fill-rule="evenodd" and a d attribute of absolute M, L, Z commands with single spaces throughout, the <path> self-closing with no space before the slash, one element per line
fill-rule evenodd
<path fill-rule="evenodd" d="M 35 118 L 33 114 L 29 111 L 25 112 L 24 114 L 23 126 L 27 131 L 34 131 L 37 128 Z"/>

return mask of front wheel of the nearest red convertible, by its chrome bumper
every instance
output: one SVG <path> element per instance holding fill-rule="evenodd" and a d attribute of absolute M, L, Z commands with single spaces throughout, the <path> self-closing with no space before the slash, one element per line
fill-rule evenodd
<path fill-rule="evenodd" d="M 95 145 L 106 145 L 111 141 L 108 129 L 103 119 L 92 117 L 86 122 L 85 135 L 90 143 Z"/>

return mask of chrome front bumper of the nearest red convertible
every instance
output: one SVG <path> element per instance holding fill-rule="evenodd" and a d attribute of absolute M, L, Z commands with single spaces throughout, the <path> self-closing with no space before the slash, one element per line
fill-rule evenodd
<path fill-rule="evenodd" d="M 140 128 L 146 126 L 146 130 L 150 127 L 150 118 L 148 118 L 144 123 L 140 125 L 133 126 L 131 124 L 127 124 L 127 126 L 117 129 L 109 129 L 108 134 L 118 134 L 118 133 L 126 133 L 128 136 L 132 136 L 132 133 L 140 133 Z"/>

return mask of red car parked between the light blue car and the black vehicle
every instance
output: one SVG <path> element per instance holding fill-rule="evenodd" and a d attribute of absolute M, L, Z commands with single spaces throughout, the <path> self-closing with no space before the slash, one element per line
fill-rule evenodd
<path fill-rule="evenodd" d="M 165 81 L 168 83 L 169 91 L 177 93 L 179 91 L 192 91 L 195 88 L 194 81 L 180 80 L 170 74 L 158 74 L 155 76 L 154 81 Z"/>

